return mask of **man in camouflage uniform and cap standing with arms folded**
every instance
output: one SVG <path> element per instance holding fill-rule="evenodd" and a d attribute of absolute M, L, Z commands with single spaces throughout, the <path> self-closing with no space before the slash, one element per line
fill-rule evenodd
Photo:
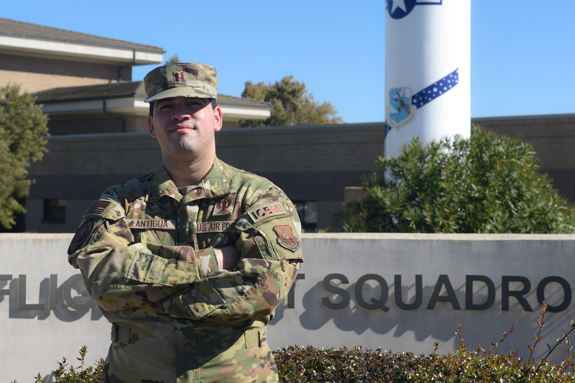
<path fill-rule="evenodd" d="M 101 381 L 276 382 L 266 325 L 302 262 L 296 209 L 217 159 L 213 67 L 167 64 L 144 81 L 163 164 L 106 190 L 68 249 L 112 323 Z"/>

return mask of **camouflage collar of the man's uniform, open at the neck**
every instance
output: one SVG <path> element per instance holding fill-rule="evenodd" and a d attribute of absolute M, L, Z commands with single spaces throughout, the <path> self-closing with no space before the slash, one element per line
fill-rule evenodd
<path fill-rule="evenodd" d="M 220 160 L 214 158 L 212 168 L 204 179 L 194 189 L 190 191 L 187 196 L 182 196 L 178 188 L 170 178 L 166 166 L 162 165 L 155 171 L 154 178 L 148 187 L 147 202 L 156 202 L 163 196 L 174 198 L 178 202 L 185 199 L 184 203 L 200 198 L 221 198 L 229 194 L 229 186 L 227 175 L 225 174 L 224 167 Z"/>

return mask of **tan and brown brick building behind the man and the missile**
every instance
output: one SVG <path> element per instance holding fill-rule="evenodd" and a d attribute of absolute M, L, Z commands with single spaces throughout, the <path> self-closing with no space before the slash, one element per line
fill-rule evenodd
<path fill-rule="evenodd" d="M 49 114 L 48 154 L 29 170 L 36 183 L 16 230 L 74 232 L 108 186 L 148 173 L 162 161 L 147 131 L 143 83 L 134 65 L 160 63 L 163 49 L 0 18 L 0 85 L 36 91 Z M 62 86 L 66 85 L 66 86 Z M 337 230 L 332 212 L 344 187 L 361 186 L 383 154 L 384 122 L 232 129 L 267 118 L 271 105 L 218 95 L 224 129 L 220 159 L 269 178 L 292 198 L 304 228 Z M 534 144 L 542 170 L 575 202 L 575 115 L 473 118 L 501 135 Z"/>

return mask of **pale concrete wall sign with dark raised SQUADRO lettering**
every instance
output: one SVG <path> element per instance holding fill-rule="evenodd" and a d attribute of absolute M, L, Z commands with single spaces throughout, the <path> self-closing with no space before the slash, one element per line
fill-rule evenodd
<path fill-rule="evenodd" d="M 110 324 L 66 261 L 72 234 L 0 234 L 0 380 L 48 378 L 56 361 L 105 357 Z M 305 263 L 269 326 L 272 348 L 361 344 L 447 353 L 463 327 L 471 346 L 533 344 L 538 302 L 549 302 L 543 342 L 575 319 L 575 235 L 305 234 Z M 545 344 L 536 353 L 543 353 Z M 541 355 L 536 355 L 540 357 Z"/>

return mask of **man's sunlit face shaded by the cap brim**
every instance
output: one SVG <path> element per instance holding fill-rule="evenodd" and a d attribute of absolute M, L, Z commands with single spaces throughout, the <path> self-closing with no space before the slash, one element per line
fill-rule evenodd
<path fill-rule="evenodd" d="M 221 116 L 221 108 L 213 110 L 207 98 L 164 98 L 155 102 L 148 127 L 164 155 L 197 158 L 214 150 L 214 132 L 221 129 Z"/>

